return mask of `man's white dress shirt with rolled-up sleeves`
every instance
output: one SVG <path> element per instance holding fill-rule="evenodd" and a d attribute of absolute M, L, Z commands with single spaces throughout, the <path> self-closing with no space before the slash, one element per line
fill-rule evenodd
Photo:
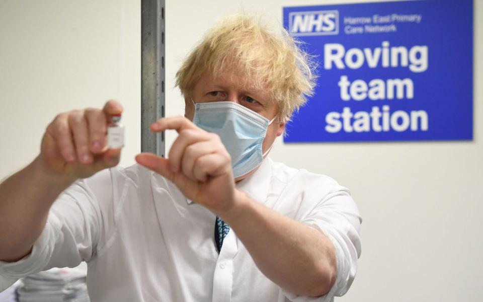
<path fill-rule="evenodd" d="M 93 302 L 332 301 L 349 289 L 361 252 L 361 218 L 346 188 L 270 159 L 236 187 L 330 238 L 337 280 L 329 293 L 310 298 L 280 288 L 232 230 L 218 255 L 215 215 L 139 165 L 105 170 L 66 189 L 32 253 L 0 262 L 0 291 L 23 276 L 81 261 L 88 263 Z"/>

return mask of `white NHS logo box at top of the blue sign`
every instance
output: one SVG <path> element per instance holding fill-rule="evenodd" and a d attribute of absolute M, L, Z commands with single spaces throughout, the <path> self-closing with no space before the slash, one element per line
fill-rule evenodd
<path fill-rule="evenodd" d="M 288 32 L 292 36 L 339 34 L 339 11 L 291 12 Z"/>

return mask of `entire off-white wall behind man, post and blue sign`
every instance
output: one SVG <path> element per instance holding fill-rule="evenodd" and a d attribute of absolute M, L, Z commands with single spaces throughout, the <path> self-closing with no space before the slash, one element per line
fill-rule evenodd
<path fill-rule="evenodd" d="M 219 16 L 342 1 L 167 0 L 167 115 L 183 114 L 174 74 Z M 348 1 L 344 1 L 349 3 Z M 351 1 L 362 2 L 362 1 Z M 56 113 L 126 107 L 128 144 L 139 147 L 140 9 L 137 1 L 0 1 L 0 178 L 38 152 Z M 290 144 L 271 157 L 349 187 L 363 216 L 355 282 L 339 301 L 478 301 L 483 297 L 483 2 L 474 4 L 474 139 L 454 142 Z M 175 135 L 167 135 L 168 145 Z"/>

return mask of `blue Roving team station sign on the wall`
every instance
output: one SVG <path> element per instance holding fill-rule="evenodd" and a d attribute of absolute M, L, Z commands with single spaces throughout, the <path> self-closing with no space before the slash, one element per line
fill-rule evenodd
<path fill-rule="evenodd" d="M 286 7 L 283 23 L 318 61 L 285 142 L 473 138 L 472 0 Z"/>

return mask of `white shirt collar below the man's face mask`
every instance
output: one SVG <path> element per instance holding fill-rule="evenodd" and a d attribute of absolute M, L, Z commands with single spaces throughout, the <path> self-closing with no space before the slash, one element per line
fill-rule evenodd
<path fill-rule="evenodd" d="M 268 157 L 262 162 L 254 174 L 236 183 L 236 189 L 244 192 L 250 198 L 260 203 L 265 203 L 268 195 L 270 178 L 272 177 L 272 160 Z M 192 204 L 191 199 L 186 198 L 188 204 Z"/>

